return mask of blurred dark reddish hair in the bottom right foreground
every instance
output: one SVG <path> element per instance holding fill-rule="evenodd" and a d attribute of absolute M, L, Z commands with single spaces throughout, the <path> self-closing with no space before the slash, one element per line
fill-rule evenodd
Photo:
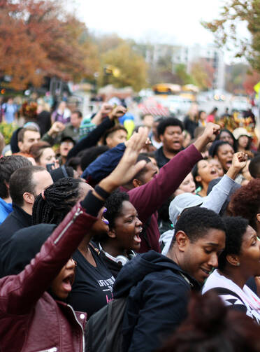
<path fill-rule="evenodd" d="M 244 312 L 225 307 L 216 293 L 193 294 L 187 319 L 158 352 L 259 352 L 260 327 Z"/>

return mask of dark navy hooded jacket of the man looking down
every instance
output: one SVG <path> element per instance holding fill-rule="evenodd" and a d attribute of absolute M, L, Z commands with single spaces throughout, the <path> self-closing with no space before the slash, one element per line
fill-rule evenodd
<path fill-rule="evenodd" d="M 199 288 L 173 260 L 155 251 L 130 260 L 113 288 L 115 298 L 129 295 L 124 351 L 156 351 L 185 318 L 190 290 Z"/>

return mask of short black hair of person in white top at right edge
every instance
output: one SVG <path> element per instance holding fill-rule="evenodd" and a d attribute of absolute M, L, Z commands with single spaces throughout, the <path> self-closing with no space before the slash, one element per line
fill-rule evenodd
<path fill-rule="evenodd" d="M 223 270 L 226 267 L 226 255 L 240 254 L 241 245 L 243 242 L 243 234 L 247 230 L 248 220 L 237 217 L 223 218 L 226 226 L 226 244 L 224 251 L 219 255 L 219 269 Z"/>

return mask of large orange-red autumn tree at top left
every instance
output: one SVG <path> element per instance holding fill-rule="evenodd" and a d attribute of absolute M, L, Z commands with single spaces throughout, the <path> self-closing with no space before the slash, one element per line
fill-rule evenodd
<path fill-rule="evenodd" d="M 79 80 L 98 68 L 85 24 L 59 0 L 0 0 L 0 76 L 11 87 L 41 85 L 44 76 Z"/>

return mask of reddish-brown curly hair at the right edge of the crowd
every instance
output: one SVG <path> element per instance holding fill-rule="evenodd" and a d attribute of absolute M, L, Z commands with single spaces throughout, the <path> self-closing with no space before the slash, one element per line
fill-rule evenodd
<path fill-rule="evenodd" d="M 257 230 L 257 214 L 260 213 L 260 178 L 251 180 L 231 197 L 229 211 L 232 216 L 242 216 Z"/>

